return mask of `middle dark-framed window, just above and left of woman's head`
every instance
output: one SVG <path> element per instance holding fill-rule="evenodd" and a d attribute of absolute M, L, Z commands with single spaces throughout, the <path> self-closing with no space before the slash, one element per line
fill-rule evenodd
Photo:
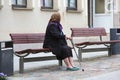
<path fill-rule="evenodd" d="M 53 9 L 53 0 L 41 0 L 42 9 Z"/>

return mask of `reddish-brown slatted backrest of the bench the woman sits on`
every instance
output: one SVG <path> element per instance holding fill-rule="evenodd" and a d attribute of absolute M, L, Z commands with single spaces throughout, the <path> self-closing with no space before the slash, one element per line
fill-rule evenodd
<path fill-rule="evenodd" d="M 45 33 L 11 33 L 14 44 L 43 43 Z"/>

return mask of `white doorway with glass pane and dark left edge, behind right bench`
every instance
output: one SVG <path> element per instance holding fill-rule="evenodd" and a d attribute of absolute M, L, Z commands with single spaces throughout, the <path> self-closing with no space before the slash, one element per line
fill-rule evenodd
<path fill-rule="evenodd" d="M 89 27 L 113 28 L 113 0 L 88 0 Z"/>

